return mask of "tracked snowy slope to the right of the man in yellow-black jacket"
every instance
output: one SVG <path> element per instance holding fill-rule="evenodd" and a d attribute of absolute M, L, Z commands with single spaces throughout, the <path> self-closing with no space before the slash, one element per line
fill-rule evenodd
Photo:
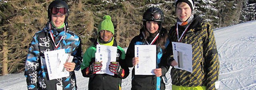
<path fill-rule="evenodd" d="M 219 90 L 256 90 L 255 25 L 255 21 L 247 22 L 214 31 L 220 59 Z"/>

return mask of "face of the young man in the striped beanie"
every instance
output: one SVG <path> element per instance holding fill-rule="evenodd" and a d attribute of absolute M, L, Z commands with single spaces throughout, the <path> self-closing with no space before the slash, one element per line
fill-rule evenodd
<path fill-rule="evenodd" d="M 191 8 L 185 2 L 179 2 L 177 4 L 176 15 L 181 22 L 185 22 L 191 15 Z"/>

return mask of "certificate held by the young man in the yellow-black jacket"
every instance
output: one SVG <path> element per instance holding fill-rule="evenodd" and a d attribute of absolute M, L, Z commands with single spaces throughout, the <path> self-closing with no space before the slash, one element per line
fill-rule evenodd
<path fill-rule="evenodd" d="M 192 73 L 192 45 L 172 42 L 172 50 L 173 58 L 178 62 L 178 65 L 174 66 L 174 68 L 186 70 Z"/>

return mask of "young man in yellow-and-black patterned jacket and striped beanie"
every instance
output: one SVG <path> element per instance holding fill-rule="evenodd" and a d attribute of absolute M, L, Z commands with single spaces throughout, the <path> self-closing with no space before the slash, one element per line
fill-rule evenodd
<path fill-rule="evenodd" d="M 216 90 L 219 60 L 211 25 L 197 15 L 193 15 L 194 0 L 176 0 L 177 23 L 170 29 L 170 41 L 192 45 L 193 71 L 172 67 L 172 90 Z M 166 48 L 168 64 L 176 66 L 172 43 Z M 166 59 L 166 57 L 165 57 Z"/>

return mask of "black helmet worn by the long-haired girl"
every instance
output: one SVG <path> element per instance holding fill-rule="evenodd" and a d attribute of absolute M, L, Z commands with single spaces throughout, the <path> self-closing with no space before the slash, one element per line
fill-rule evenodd
<path fill-rule="evenodd" d="M 159 22 L 159 31 L 162 29 L 162 23 L 164 22 L 164 13 L 160 8 L 150 7 L 143 14 L 143 25 L 146 27 L 147 21 Z M 146 29 L 146 28 L 145 28 Z"/>

